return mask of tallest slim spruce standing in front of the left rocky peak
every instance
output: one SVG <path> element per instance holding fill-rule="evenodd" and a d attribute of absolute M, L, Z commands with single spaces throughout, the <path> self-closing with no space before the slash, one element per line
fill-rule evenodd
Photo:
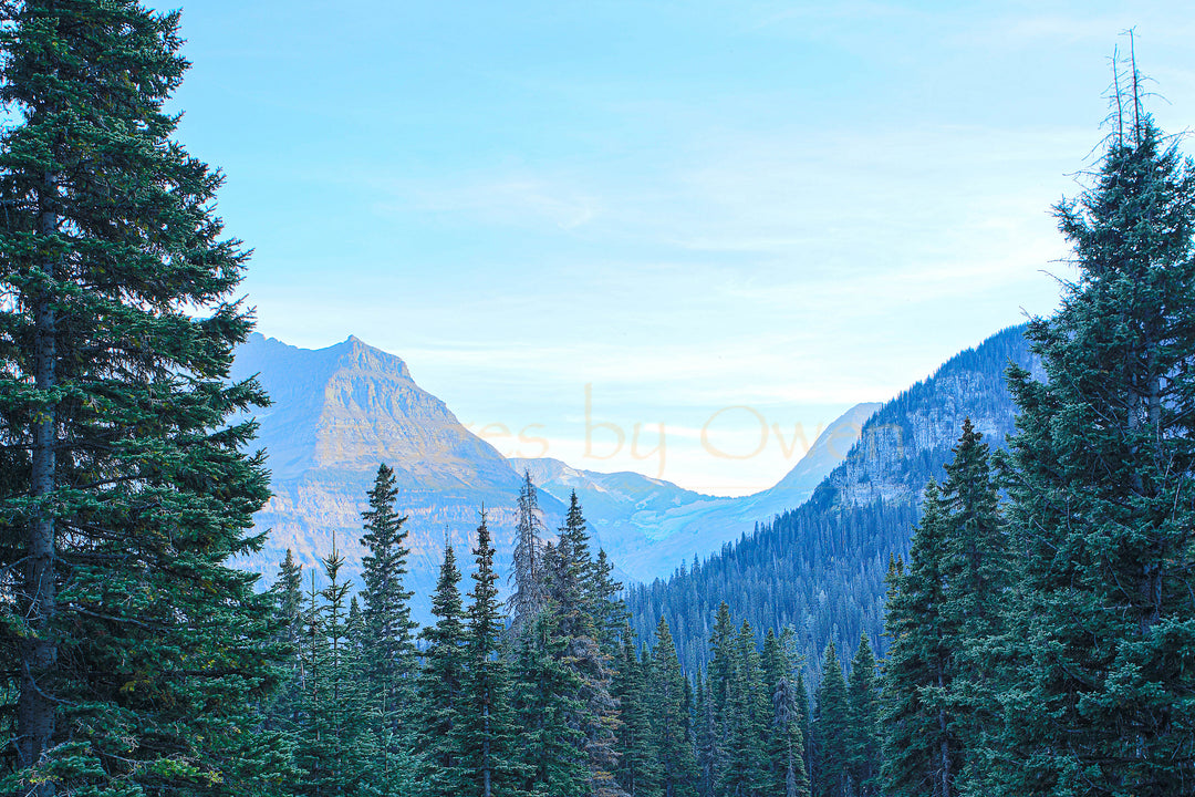
<path fill-rule="evenodd" d="M 413 746 L 412 719 L 407 711 L 413 703 L 415 642 L 418 626 L 411 619 L 411 593 L 403 588 L 406 576 L 404 547 L 406 517 L 396 510 L 398 489 L 394 471 L 378 466 L 369 490 L 369 509 L 364 521 L 362 545 L 369 551 L 361 560 L 364 582 L 362 597 L 362 660 L 369 703 L 376 722 L 378 759 L 372 762 L 374 785 L 384 792 L 410 777 L 409 750 Z"/>

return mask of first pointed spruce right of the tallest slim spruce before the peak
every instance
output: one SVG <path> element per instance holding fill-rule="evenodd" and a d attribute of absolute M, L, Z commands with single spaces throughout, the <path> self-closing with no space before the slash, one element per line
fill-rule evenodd
<path fill-rule="evenodd" d="M 445 560 L 431 597 L 436 623 L 419 632 L 427 643 L 419 673 L 424 718 L 419 748 L 428 797 L 458 797 L 466 789 L 461 737 L 466 651 L 460 577 L 456 557 L 446 541 Z"/>

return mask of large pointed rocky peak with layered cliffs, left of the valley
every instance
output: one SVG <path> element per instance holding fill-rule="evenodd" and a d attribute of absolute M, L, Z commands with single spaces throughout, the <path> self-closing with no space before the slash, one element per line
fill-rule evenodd
<path fill-rule="evenodd" d="M 361 511 L 380 462 L 394 470 L 402 491 L 418 615 L 425 617 L 446 534 L 467 558 L 483 504 L 498 559 L 509 559 L 519 474 L 416 385 L 403 360 L 355 337 L 313 351 L 253 335 L 237 352 L 233 376 L 255 374 L 274 401 L 257 413 L 274 497 L 255 517 L 270 531 L 266 547 L 245 568 L 272 582 L 292 548 L 318 572 L 335 534 L 344 571 L 360 586 Z M 563 511 L 551 496 L 541 504 Z"/>

